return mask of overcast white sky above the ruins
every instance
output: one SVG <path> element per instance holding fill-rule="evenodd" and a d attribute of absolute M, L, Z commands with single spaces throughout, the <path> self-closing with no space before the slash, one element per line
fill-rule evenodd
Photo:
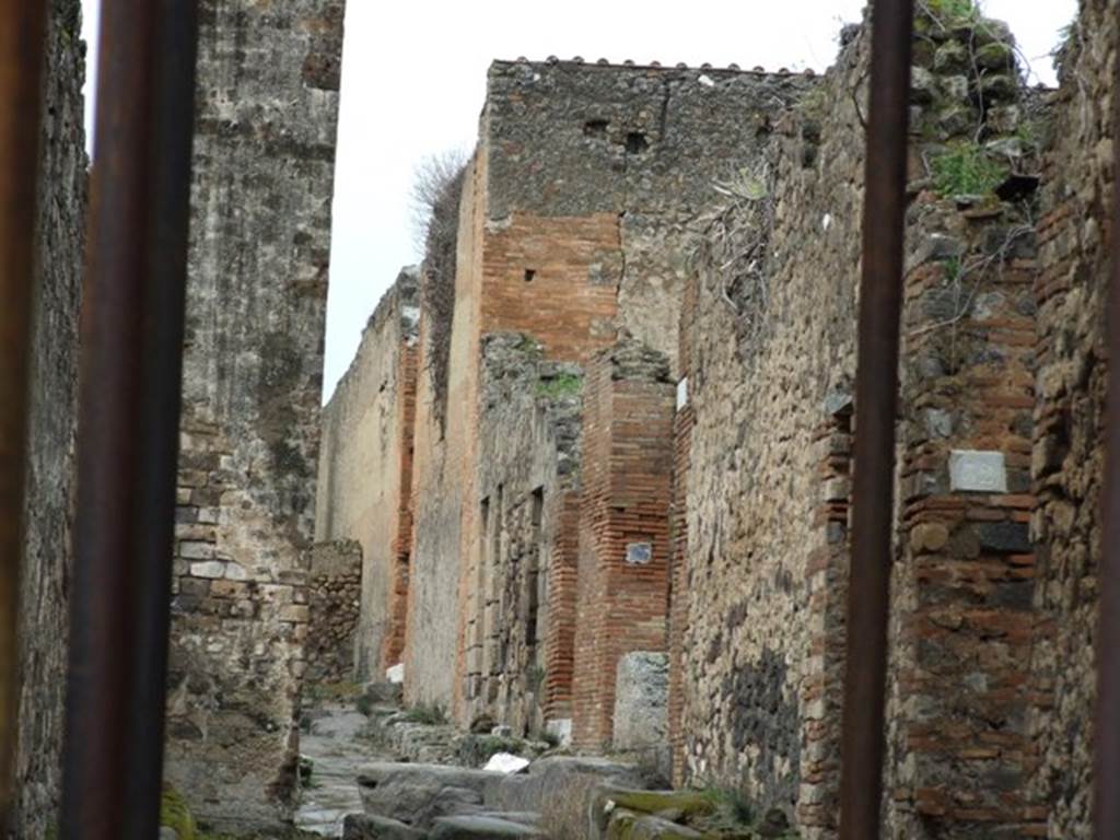
<path fill-rule="evenodd" d="M 349 0 L 343 56 L 324 400 L 346 372 L 366 319 L 398 270 L 419 261 L 409 185 L 417 164 L 469 149 L 494 58 L 737 63 L 823 71 L 864 0 Z M 95 56 L 96 2 L 83 0 Z M 551 13 L 542 9 L 551 8 Z M 1076 0 L 986 0 L 1007 20 L 1038 81 Z M 92 74 L 91 74 L 92 75 Z M 87 106 L 92 97 L 87 96 Z"/>

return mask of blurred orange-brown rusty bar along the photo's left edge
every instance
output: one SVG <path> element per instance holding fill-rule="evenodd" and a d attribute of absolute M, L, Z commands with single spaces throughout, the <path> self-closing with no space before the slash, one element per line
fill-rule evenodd
<path fill-rule="evenodd" d="M 0 0 L 0 827 L 12 800 L 45 0 Z"/>

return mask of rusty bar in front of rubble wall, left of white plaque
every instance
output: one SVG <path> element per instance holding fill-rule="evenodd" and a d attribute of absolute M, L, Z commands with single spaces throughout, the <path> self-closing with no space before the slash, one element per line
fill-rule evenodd
<path fill-rule="evenodd" d="M 841 840 L 879 837 L 913 0 L 876 0 L 859 296 Z"/>

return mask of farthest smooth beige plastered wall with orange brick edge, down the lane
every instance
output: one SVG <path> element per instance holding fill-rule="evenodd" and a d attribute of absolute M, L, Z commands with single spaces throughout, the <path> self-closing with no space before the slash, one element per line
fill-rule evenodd
<path fill-rule="evenodd" d="M 417 269 L 405 269 L 323 410 L 315 536 L 362 544 L 362 680 L 383 676 L 404 646 L 419 306 Z"/>

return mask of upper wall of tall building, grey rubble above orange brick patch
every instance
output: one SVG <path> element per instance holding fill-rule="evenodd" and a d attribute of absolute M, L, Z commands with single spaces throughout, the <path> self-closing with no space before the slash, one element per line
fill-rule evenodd
<path fill-rule="evenodd" d="M 484 330 L 526 332 L 551 357 L 580 361 L 624 327 L 675 368 L 688 225 L 712 180 L 765 144 L 772 114 L 806 84 L 727 69 L 496 62 L 483 120 Z M 535 272 L 529 288 L 525 271 Z M 569 304 L 560 310 L 558 288 Z"/>

